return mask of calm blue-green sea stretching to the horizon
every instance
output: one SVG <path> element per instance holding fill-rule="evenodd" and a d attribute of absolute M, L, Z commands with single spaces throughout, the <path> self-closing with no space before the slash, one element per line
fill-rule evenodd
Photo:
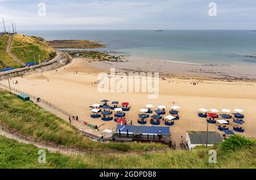
<path fill-rule="evenodd" d="M 188 63 L 256 66 L 256 32 L 250 31 L 163 31 L 88 30 L 20 31 L 46 40 L 87 39 L 102 41 L 101 50 L 127 53 L 139 59 Z"/>

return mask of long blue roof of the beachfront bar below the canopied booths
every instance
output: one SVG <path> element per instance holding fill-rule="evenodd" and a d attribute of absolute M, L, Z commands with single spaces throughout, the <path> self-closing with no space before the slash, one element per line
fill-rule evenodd
<path fill-rule="evenodd" d="M 157 127 L 157 126 L 125 126 L 125 125 L 117 125 L 117 130 L 121 130 L 121 133 L 126 134 L 127 130 L 129 133 L 133 133 L 134 131 L 139 131 L 144 135 L 158 135 L 159 130 L 161 130 L 161 134 L 170 135 L 170 127 Z"/>

